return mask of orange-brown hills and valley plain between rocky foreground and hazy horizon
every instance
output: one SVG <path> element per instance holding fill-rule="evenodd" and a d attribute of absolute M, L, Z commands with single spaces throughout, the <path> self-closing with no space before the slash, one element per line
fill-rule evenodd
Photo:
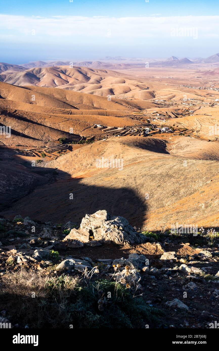
<path fill-rule="evenodd" d="M 5 81 L 22 87 L 0 82 L 0 123 L 12 128 L 10 138 L 0 135 L 1 193 L 7 196 L 2 215 L 79 222 L 85 213 L 106 209 L 148 230 L 175 222 L 219 226 L 219 85 L 213 71 L 190 64 L 5 73 Z M 163 126 L 172 132 L 160 133 Z M 94 142 L 74 144 L 80 140 Z M 123 165 L 98 168 L 102 158 Z M 40 162 L 33 167 L 33 160 Z"/>

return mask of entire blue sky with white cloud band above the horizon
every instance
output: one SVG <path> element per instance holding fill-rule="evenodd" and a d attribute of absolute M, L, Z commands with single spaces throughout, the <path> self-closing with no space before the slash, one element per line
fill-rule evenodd
<path fill-rule="evenodd" d="M 219 1 L 0 0 L 0 61 L 208 57 Z"/>

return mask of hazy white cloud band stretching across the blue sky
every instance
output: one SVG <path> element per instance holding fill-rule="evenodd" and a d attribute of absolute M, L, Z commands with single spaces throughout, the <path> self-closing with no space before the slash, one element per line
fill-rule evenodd
<path fill-rule="evenodd" d="M 85 16 L 16 16 L 0 14 L 0 33 L 3 41 L 57 43 L 92 43 L 107 40 L 131 45 L 136 39 L 170 40 L 173 27 L 198 28 L 198 39 L 218 38 L 219 16 L 160 17 L 85 17 Z M 159 15 L 159 16 L 158 16 Z M 33 30 L 35 35 L 32 35 Z M 179 39 L 179 38 L 178 38 Z M 155 41 L 156 42 L 156 41 Z"/>

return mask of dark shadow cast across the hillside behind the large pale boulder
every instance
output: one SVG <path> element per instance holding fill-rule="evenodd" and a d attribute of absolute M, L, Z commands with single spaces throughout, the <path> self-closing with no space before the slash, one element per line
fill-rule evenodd
<path fill-rule="evenodd" d="M 146 200 L 135 189 L 85 185 L 81 179 L 57 172 L 54 168 L 25 167 L 17 162 L 0 161 L 1 215 L 13 218 L 20 214 L 41 221 L 79 222 L 86 213 L 107 210 L 141 227 L 146 216 Z M 73 199 L 70 194 L 73 194 Z"/>

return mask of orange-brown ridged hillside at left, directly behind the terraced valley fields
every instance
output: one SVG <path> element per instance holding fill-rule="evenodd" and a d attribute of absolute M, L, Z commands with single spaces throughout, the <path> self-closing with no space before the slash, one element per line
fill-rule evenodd
<path fill-rule="evenodd" d="M 81 137 L 104 137 L 106 129 L 120 131 L 141 125 L 130 117 L 129 109 L 137 106 L 135 101 L 129 105 L 127 100 L 108 101 L 90 94 L 35 86 L 21 88 L 3 82 L 0 96 L 0 123 L 12 128 L 11 138 L 0 135 L 1 143 L 7 146 L 45 146 L 58 143 L 60 138 L 72 142 Z"/>

